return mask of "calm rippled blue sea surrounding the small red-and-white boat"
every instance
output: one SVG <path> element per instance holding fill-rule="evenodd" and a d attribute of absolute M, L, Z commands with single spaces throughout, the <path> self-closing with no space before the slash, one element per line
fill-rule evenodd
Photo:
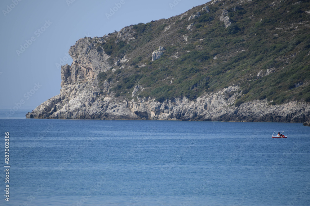
<path fill-rule="evenodd" d="M 310 205 L 310 127 L 292 123 L 24 119 L 0 205 Z M 21 115 L 23 114 L 23 115 Z M 285 131 L 287 139 L 271 138 Z"/>

